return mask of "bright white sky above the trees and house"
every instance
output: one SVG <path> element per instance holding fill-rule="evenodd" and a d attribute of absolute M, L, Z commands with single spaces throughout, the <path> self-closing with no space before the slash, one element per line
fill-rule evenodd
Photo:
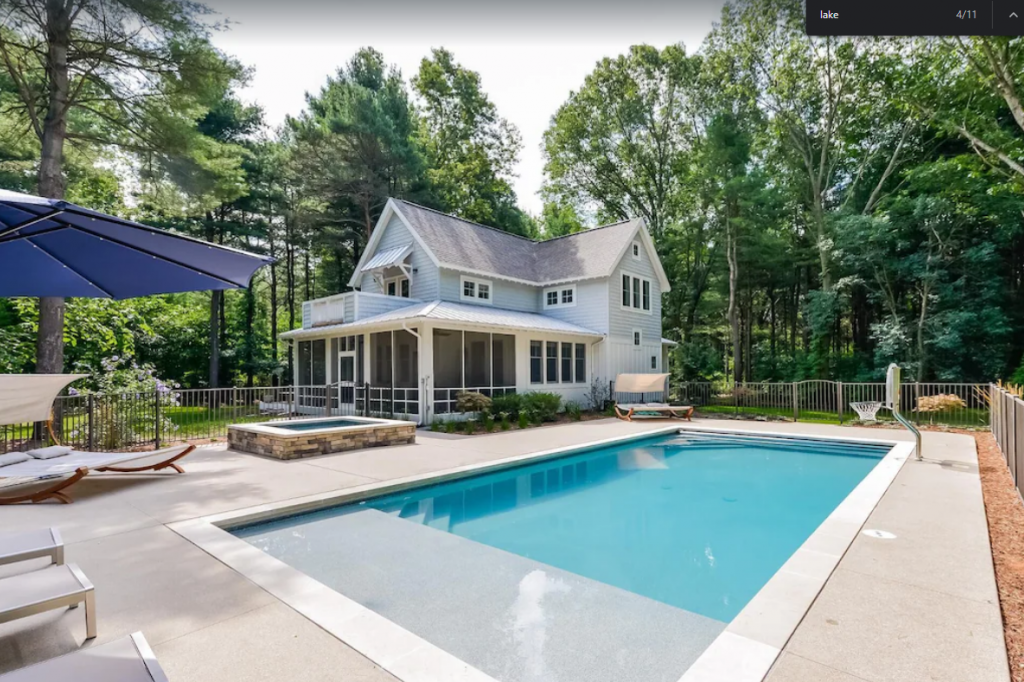
<path fill-rule="evenodd" d="M 213 42 L 254 70 L 240 94 L 260 104 L 271 127 L 297 115 L 305 94 L 357 49 L 373 46 L 407 81 L 432 47 L 451 50 L 480 74 L 501 116 L 522 134 L 513 185 L 519 206 L 541 212 L 541 151 L 551 116 L 594 65 L 630 45 L 682 42 L 695 51 L 724 0 L 207 0 L 229 26 Z"/>

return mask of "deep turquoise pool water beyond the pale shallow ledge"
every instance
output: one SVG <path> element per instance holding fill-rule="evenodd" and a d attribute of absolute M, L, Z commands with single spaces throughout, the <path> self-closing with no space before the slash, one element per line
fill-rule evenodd
<path fill-rule="evenodd" d="M 275 535 L 376 509 L 728 622 L 888 449 L 662 437 L 236 532 L 288 561 Z"/>

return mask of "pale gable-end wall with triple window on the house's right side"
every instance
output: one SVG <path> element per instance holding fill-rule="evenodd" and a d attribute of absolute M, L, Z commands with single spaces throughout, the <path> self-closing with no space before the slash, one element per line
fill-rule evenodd
<path fill-rule="evenodd" d="M 650 281 L 650 312 L 623 307 L 623 274 Z M 605 342 L 609 378 L 616 374 L 663 372 L 662 357 L 662 284 L 647 250 L 640 249 L 640 259 L 632 254 L 632 246 L 618 261 L 608 280 L 608 339 Z M 641 345 L 633 345 L 633 331 L 641 332 Z M 656 357 L 657 368 L 651 368 Z"/>

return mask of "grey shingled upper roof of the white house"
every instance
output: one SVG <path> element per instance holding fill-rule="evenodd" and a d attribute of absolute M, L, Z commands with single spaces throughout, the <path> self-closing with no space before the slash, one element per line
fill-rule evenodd
<path fill-rule="evenodd" d="M 607 276 L 639 226 L 639 220 L 627 220 L 535 242 L 407 201 L 394 203 L 441 265 L 539 285 Z"/>

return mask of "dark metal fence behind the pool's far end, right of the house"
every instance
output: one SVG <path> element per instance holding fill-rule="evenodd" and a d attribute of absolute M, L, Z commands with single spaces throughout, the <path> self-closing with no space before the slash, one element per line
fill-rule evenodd
<path fill-rule="evenodd" d="M 687 382 L 672 387 L 674 401 L 698 414 L 764 417 L 845 424 L 859 419 L 853 403 L 882 403 L 884 383 L 799 381 L 792 383 Z M 919 425 L 965 428 L 989 423 L 988 384 L 909 383 L 900 389 L 903 416 Z M 892 421 L 880 410 L 877 421 Z"/>

